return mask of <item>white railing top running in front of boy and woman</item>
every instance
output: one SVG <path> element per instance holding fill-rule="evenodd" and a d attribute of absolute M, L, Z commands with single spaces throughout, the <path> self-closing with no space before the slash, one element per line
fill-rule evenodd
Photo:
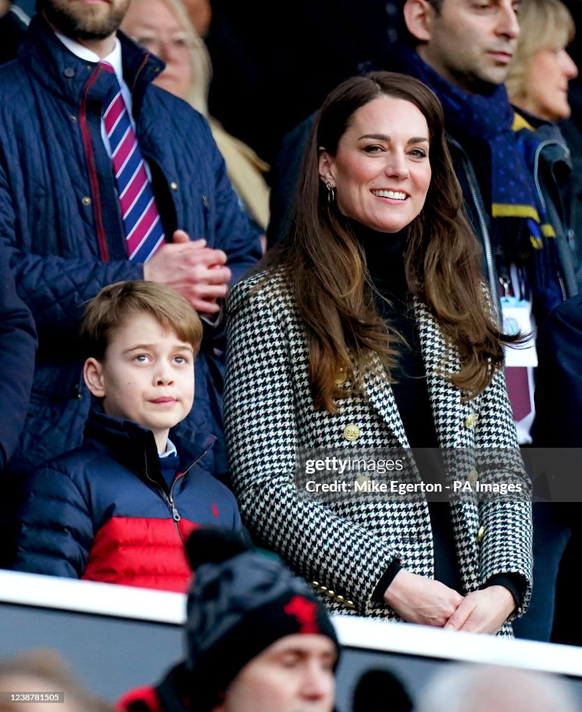
<path fill-rule="evenodd" d="M 4 602 L 175 627 L 185 620 L 185 600 L 185 595 L 178 593 L 0 571 L 0 606 Z M 334 623 L 342 644 L 353 649 L 495 663 L 582 677 L 582 648 L 574 646 L 502 640 L 356 616 L 335 616 Z"/>

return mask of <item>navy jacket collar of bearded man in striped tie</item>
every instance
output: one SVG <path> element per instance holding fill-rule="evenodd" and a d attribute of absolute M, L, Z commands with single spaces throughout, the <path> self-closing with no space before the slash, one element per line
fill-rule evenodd
<path fill-rule="evenodd" d="M 146 87 L 163 70 L 165 64 L 121 31 L 118 31 L 117 36 L 121 42 L 123 78 L 131 89 L 135 113 L 136 102 L 141 103 Z M 91 99 L 101 100 L 108 88 L 108 81 L 103 77 L 103 70 L 98 63 L 80 59 L 68 51 L 41 14 L 31 20 L 18 58 L 48 92 L 74 107 L 80 103 L 90 78 L 93 78 Z"/>

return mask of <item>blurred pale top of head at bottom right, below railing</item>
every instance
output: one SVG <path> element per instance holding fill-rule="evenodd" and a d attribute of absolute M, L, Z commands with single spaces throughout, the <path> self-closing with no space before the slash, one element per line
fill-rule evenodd
<path fill-rule="evenodd" d="M 568 683 L 555 674 L 451 663 L 419 693 L 414 712 L 576 712 Z"/>

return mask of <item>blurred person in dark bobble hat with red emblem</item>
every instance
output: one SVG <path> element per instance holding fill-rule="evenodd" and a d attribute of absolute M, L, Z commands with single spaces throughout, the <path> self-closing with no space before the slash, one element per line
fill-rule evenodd
<path fill-rule="evenodd" d="M 186 549 L 186 658 L 118 711 L 332 712 L 339 644 L 305 584 L 220 531 L 193 532 Z"/>

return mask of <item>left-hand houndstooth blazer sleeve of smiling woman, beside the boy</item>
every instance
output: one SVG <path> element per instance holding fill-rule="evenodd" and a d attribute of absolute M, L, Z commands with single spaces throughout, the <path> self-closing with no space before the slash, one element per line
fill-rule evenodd
<path fill-rule="evenodd" d="M 325 582 L 362 611 L 395 554 L 385 540 L 325 504 L 300 497 L 294 480 L 297 407 L 285 310 L 262 293 L 230 296 L 225 430 L 243 521 L 298 575 Z"/>

